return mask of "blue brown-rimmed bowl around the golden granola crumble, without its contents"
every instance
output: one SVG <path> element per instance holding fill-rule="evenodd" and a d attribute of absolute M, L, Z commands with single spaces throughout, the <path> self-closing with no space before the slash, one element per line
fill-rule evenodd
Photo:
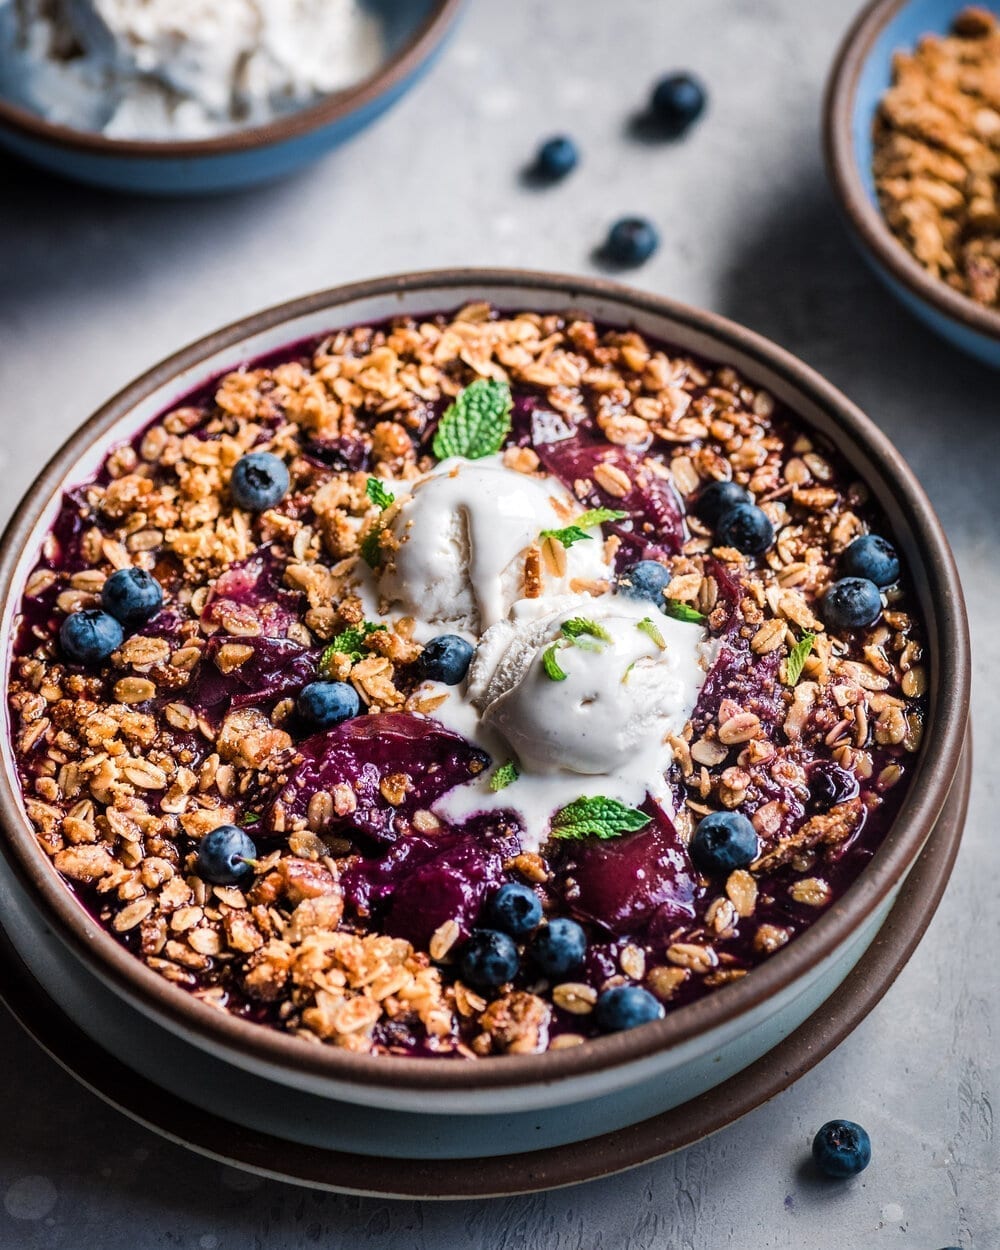
<path fill-rule="evenodd" d="M 979 0 L 982 4 L 982 0 Z M 824 106 L 826 166 L 864 256 L 890 291 L 942 339 L 1000 369 L 1000 312 L 932 278 L 892 235 L 871 172 L 872 126 L 892 54 L 945 34 L 968 0 L 875 0 L 845 39 Z M 986 9 L 1000 14 L 996 0 Z"/>

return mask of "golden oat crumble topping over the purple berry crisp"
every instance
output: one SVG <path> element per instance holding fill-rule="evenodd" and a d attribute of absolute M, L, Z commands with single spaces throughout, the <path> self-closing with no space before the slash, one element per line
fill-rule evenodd
<path fill-rule="evenodd" d="M 651 482 L 690 501 L 706 482 L 734 479 L 776 531 L 751 558 L 714 545 L 688 512 L 681 550 L 659 556 L 668 599 L 701 614 L 720 646 L 671 744 L 678 845 L 700 816 L 739 810 L 760 858 L 722 882 L 694 874 L 692 915 L 659 930 L 646 916 L 629 932 L 589 914 L 585 898 L 588 875 L 614 879 L 628 839 L 600 844 L 611 871 L 595 874 L 590 848 L 525 852 L 516 826 L 494 829 L 504 878 L 532 886 L 549 919 L 585 920 L 591 944 L 574 979 L 551 985 L 525 964 L 494 994 L 462 982 L 468 931 L 455 918 L 408 940 L 382 930 L 376 890 L 348 884 L 360 868 L 388 874 L 408 840 L 454 836 L 424 805 L 426 776 L 408 771 L 405 755 L 289 790 L 309 750 L 295 694 L 321 661 L 356 689 L 376 734 L 378 718 L 424 721 L 446 698 L 415 675 L 412 620 L 366 625 L 352 574 L 365 549 L 391 555 L 394 541 L 369 476 L 429 469 L 444 406 L 479 378 L 515 395 L 509 469 L 542 474 L 539 429 L 585 429 L 592 471 L 566 485 L 586 506 L 625 506 Z M 228 489 L 250 449 L 280 456 L 291 479 L 260 514 L 236 508 Z M 655 524 L 632 516 L 625 540 L 655 544 Z M 876 521 L 864 485 L 768 392 L 638 332 L 485 304 L 339 331 L 221 378 L 66 495 L 25 588 L 10 678 L 28 815 L 55 870 L 109 930 L 221 1010 L 360 1051 L 474 1058 L 576 1045 L 595 1031 L 609 985 L 640 984 L 679 1004 L 745 975 L 878 845 L 920 745 L 920 628 L 901 589 L 850 635 L 828 632 L 818 614 L 839 554 Z M 608 541 L 614 551 L 622 539 Z M 551 544 L 529 551 L 525 591 L 559 575 L 559 561 Z M 96 605 L 105 579 L 132 565 L 164 588 L 162 611 L 98 669 L 68 664 L 60 621 Z M 466 765 L 472 775 L 484 761 Z M 840 779 L 825 800 L 818 766 Z M 369 838 L 376 808 L 400 838 L 388 855 Z M 258 841 L 252 878 L 212 885 L 195 870 L 199 842 L 234 822 Z"/>

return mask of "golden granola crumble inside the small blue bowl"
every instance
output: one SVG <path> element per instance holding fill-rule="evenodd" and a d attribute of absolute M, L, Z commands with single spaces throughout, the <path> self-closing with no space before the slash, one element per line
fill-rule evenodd
<path fill-rule="evenodd" d="M 962 10 L 945 38 L 896 52 L 875 125 L 886 221 L 920 264 L 1000 306 L 1000 25 Z"/>

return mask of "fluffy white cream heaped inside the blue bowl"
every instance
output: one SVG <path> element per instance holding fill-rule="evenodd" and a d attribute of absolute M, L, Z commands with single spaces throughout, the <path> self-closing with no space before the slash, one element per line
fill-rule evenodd
<path fill-rule="evenodd" d="M 260 125 L 371 74 L 359 0 L 0 0 L 0 91 L 116 139 Z"/>

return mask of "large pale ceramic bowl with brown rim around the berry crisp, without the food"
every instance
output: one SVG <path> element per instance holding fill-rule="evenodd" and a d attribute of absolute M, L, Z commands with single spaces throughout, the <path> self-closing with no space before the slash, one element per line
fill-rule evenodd
<path fill-rule="evenodd" d="M 454 309 L 472 300 L 505 309 L 576 311 L 631 326 L 741 370 L 831 440 L 888 514 L 912 572 L 928 628 L 930 714 L 924 746 L 900 814 L 842 899 L 805 934 L 749 976 L 631 1032 L 571 1050 L 448 1059 L 352 1055 L 220 1012 L 165 982 L 124 950 L 80 906 L 40 850 L 24 815 L 4 700 L 0 734 L 0 870 L 10 896 L 4 924 L 49 994 L 75 1004 L 78 1022 L 115 1054 L 155 1062 L 110 1014 L 88 1009 L 84 970 L 131 1012 L 149 1036 L 185 1045 L 276 1085 L 396 1116 L 486 1115 L 516 1120 L 494 1149 L 524 1140 L 544 1109 L 551 1131 L 581 1140 L 678 1106 L 771 1050 L 836 992 L 879 932 L 935 821 L 946 810 L 969 712 L 969 640 L 961 586 L 926 496 L 888 439 L 839 391 L 780 348 L 711 314 L 614 282 L 522 271 L 451 270 L 379 279 L 325 291 L 248 318 L 202 339 L 121 391 L 56 452 L 19 505 L 0 542 L 0 638 L 9 652 L 21 590 L 66 486 L 86 480 L 115 444 L 131 436 L 194 386 L 240 362 L 331 329 L 395 314 Z M 2 671 L 6 674 L 9 654 Z M 79 975 L 78 975 L 79 974 Z M 124 1016 L 122 1016 L 124 1019 Z M 172 1042 L 171 1042 L 172 1044 Z M 331 1111 L 335 1104 L 331 1104 Z M 366 1112 L 368 1114 L 368 1112 Z M 520 1119 L 519 1119 L 520 1118 Z M 408 1121 L 409 1122 L 409 1121 Z M 402 1120 L 400 1120 L 402 1124 Z M 418 1135 L 419 1145 L 419 1135 Z"/>

